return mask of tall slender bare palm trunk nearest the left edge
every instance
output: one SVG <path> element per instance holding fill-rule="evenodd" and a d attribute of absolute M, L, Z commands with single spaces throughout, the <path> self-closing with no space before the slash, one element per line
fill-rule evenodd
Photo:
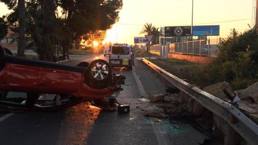
<path fill-rule="evenodd" d="M 19 13 L 19 36 L 18 36 L 18 51 L 17 56 L 24 57 L 25 51 L 25 0 L 18 0 Z"/>

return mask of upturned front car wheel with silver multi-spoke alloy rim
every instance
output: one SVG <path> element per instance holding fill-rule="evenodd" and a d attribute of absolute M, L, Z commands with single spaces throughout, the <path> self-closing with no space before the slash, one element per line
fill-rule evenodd
<path fill-rule="evenodd" d="M 91 88 L 102 89 L 108 86 L 112 76 L 112 69 L 108 62 L 97 59 L 89 64 L 87 75 Z"/>

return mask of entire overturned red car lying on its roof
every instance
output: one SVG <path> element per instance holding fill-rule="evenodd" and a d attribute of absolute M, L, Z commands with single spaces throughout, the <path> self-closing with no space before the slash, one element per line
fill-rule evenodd
<path fill-rule="evenodd" d="M 101 59 L 70 66 L 16 57 L 0 45 L 0 110 L 44 112 L 87 101 L 111 110 L 124 81 Z"/>

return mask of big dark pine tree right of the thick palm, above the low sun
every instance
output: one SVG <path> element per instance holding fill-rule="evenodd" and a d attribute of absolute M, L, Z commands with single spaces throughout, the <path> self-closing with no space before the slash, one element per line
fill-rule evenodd
<path fill-rule="evenodd" d="M 63 8 L 64 41 L 62 47 L 67 53 L 70 41 L 76 41 L 91 30 L 107 30 L 119 19 L 122 0 L 60 0 Z M 63 54 L 64 55 L 64 54 Z"/>

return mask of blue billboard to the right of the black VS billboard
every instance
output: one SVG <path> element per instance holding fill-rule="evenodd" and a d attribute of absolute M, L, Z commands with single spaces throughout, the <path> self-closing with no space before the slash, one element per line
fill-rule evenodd
<path fill-rule="evenodd" d="M 193 36 L 219 36 L 220 25 L 193 26 Z"/>

